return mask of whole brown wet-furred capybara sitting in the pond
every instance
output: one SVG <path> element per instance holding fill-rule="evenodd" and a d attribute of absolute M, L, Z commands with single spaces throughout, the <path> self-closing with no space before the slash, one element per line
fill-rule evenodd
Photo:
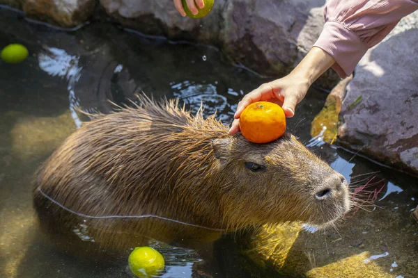
<path fill-rule="evenodd" d="M 215 115 L 138 98 L 84 123 L 38 170 L 34 206 L 50 237 L 118 252 L 263 224 L 325 227 L 350 209 L 343 176 L 295 136 L 254 144 Z"/>

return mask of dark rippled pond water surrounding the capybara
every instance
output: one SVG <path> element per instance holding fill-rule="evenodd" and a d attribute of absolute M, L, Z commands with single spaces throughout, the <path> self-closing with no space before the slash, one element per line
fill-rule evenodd
<path fill-rule="evenodd" d="M 144 91 L 156 98 L 178 97 L 194 111 L 202 102 L 206 115 L 216 110 L 229 124 L 242 95 L 271 78 L 231 65 L 214 47 L 146 37 L 106 22 L 61 31 L 0 8 L 0 48 L 15 42 L 26 45 L 30 56 L 17 65 L 0 62 L 0 277 L 130 277 L 125 261 L 91 266 L 55 250 L 36 222 L 33 173 L 82 122 L 75 108 L 107 113 L 106 99 L 121 104 Z M 332 271 L 342 269 L 358 277 L 418 277 L 418 225 L 410 220 L 418 179 L 320 141 L 312 144 L 310 123 L 326 97 L 310 90 L 297 116 L 288 120 L 289 129 L 351 181 L 353 190 L 369 182 L 376 206 L 352 213 L 339 231 L 300 231 L 291 252 L 309 260 L 298 267 L 282 265 L 284 277 L 333 277 Z M 229 238 L 222 244 L 234 248 Z M 200 258 L 192 250 L 155 246 L 167 264 L 162 277 L 192 272 L 199 277 L 193 265 Z M 223 270 L 212 275 L 277 277 L 233 258 L 218 258 Z M 242 271 L 242 264 L 249 268 Z"/>

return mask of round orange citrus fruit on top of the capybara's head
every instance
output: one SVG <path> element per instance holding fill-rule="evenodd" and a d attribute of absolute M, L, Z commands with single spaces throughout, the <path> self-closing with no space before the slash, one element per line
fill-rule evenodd
<path fill-rule="evenodd" d="M 268 101 L 254 102 L 242 111 L 240 129 L 242 136 L 249 142 L 272 142 L 286 131 L 286 115 L 277 104 Z"/>

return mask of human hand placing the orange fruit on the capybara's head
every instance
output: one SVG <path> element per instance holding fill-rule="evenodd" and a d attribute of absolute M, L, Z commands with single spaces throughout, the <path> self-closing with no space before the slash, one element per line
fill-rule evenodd
<path fill-rule="evenodd" d="M 242 101 L 240 101 L 229 134 L 232 135 L 240 131 L 240 115 L 242 111 L 249 104 L 256 101 L 270 101 L 279 104 L 283 108 L 286 117 L 293 117 L 296 105 L 304 99 L 308 89 L 309 82 L 295 74 L 289 74 L 281 79 L 264 83 L 256 90 L 245 95 Z"/>

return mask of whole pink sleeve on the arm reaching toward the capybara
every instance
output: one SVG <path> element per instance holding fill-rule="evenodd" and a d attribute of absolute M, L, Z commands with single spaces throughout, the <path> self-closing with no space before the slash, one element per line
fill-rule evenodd
<path fill-rule="evenodd" d="M 328 0 L 325 24 L 314 47 L 330 54 L 342 78 L 353 73 L 367 49 L 382 41 L 418 0 Z"/>

